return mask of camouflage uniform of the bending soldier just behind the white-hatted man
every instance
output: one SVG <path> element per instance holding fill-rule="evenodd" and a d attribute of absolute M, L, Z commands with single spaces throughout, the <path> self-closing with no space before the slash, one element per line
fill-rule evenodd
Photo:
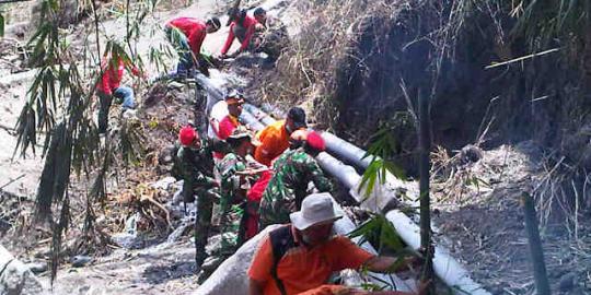
<path fill-rule="evenodd" d="M 331 180 L 303 148 L 286 151 L 275 161 L 273 169 L 275 175 L 260 201 L 260 229 L 270 224 L 289 223 L 289 213 L 300 210 L 310 181 L 321 192 L 332 189 Z"/>

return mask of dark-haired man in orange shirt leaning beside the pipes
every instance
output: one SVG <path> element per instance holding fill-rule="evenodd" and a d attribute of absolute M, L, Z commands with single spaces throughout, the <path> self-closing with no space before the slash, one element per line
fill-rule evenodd
<path fill-rule="evenodd" d="M 289 148 L 291 132 L 306 127 L 305 111 L 301 107 L 292 107 L 286 120 L 276 121 L 257 134 L 260 146 L 256 148 L 255 160 L 270 166 L 271 161 Z"/>

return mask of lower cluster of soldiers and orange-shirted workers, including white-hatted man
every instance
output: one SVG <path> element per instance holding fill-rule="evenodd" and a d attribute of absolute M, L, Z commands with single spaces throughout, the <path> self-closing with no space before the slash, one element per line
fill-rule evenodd
<path fill-rule="evenodd" d="M 285 120 L 255 133 L 240 120 L 243 95 L 229 91 L 224 102 L 228 115 L 210 121 L 216 138 L 204 139 L 192 126 L 182 128 L 178 137 L 183 177 L 192 184 L 185 186 L 185 200 L 197 199 L 197 266 L 207 257 L 218 203 L 221 245 L 211 261 L 223 261 L 266 226 L 283 224 L 265 237 L 252 261 L 250 294 L 407 294 L 326 284 L 335 271 L 396 271 L 416 260 L 395 263 L 396 258 L 371 255 L 333 235 L 333 224 L 341 216 L 333 208 L 332 181 L 315 160 L 325 142 L 308 129 L 302 108 L 292 107 Z"/>

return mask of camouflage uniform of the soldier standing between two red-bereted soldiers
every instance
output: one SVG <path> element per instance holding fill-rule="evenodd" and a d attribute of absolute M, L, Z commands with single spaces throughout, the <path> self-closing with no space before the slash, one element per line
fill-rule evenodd
<path fill-rule="evenodd" d="M 220 231 L 222 258 L 234 253 L 244 240 L 244 210 L 246 205 L 242 179 L 236 172 L 246 169 L 246 162 L 241 156 L 229 153 L 217 165 L 221 176 L 220 185 Z"/>

